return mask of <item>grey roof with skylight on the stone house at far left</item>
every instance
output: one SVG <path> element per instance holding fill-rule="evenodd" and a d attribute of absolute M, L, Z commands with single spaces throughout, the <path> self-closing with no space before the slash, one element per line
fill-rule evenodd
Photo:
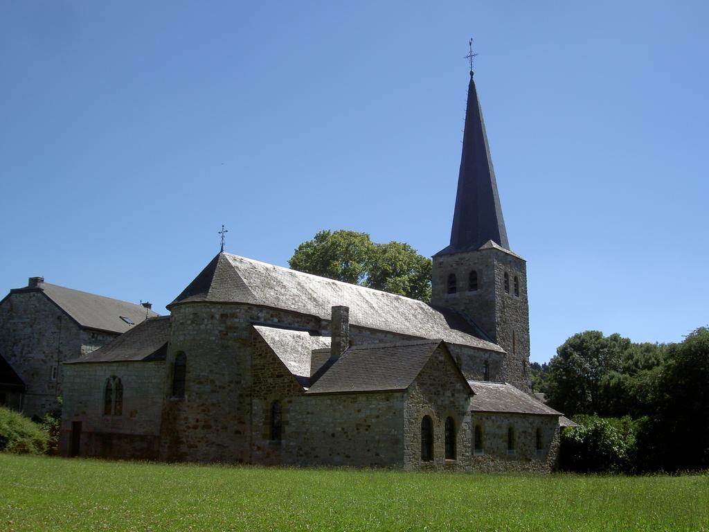
<path fill-rule="evenodd" d="M 43 292 L 79 326 L 99 331 L 111 333 L 128 331 L 133 326 L 121 319 L 121 316 L 133 323 L 140 323 L 146 317 L 159 316 L 157 312 L 146 309 L 141 304 L 89 294 L 89 292 L 60 287 L 48 282 L 40 282 L 37 287 L 10 290 L 10 294 L 22 292 Z"/>

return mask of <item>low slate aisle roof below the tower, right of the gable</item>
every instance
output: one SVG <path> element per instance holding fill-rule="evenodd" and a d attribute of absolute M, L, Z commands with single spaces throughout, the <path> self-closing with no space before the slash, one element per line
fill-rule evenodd
<path fill-rule="evenodd" d="M 509 412 L 510 414 L 542 414 L 561 416 L 560 412 L 537 401 L 512 384 L 468 381 L 475 392 L 470 409 L 474 412 Z"/>

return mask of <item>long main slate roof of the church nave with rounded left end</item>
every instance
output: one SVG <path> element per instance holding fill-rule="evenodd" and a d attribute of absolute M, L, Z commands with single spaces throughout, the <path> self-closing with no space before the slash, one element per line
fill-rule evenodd
<path fill-rule="evenodd" d="M 333 306 L 345 305 L 354 326 L 504 352 L 455 311 L 230 253 L 216 255 L 169 306 L 188 301 L 256 304 L 323 320 L 330 320 Z"/>

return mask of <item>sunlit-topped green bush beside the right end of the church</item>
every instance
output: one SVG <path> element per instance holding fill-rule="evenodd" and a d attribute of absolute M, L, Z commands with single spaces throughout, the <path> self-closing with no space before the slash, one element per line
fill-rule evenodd
<path fill-rule="evenodd" d="M 574 418 L 559 448 L 559 466 L 576 472 L 630 472 L 635 457 L 635 423 L 629 418 Z"/>

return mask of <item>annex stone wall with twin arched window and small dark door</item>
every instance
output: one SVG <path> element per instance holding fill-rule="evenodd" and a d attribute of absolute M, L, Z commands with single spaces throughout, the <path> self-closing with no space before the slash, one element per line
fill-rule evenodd
<path fill-rule="evenodd" d="M 72 428 L 81 422 L 80 456 L 158 458 L 160 415 L 165 386 L 164 362 L 88 362 L 67 364 L 60 452 L 72 454 Z M 121 415 L 104 414 L 106 380 L 115 407 L 117 379 L 123 385 Z"/>

